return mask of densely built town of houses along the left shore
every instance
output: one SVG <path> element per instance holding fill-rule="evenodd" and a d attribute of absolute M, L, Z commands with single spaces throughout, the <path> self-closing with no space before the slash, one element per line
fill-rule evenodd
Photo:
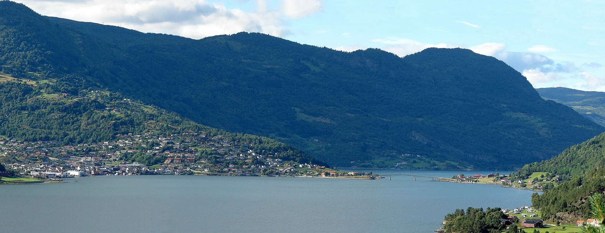
<path fill-rule="evenodd" d="M 57 141 L 0 139 L 0 162 L 13 173 L 39 179 L 91 175 L 208 174 L 228 176 L 364 177 L 315 164 L 283 161 L 253 145 L 223 136 L 119 134 L 115 141 L 64 145 Z"/>

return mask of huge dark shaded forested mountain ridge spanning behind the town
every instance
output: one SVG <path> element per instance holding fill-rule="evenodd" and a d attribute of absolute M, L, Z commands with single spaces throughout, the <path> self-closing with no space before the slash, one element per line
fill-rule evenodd
<path fill-rule="evenodd" d="M 52 79 L 71 95 L 120 92 L 338 166 L 381 166 L 412 154 L 512 168 L 605 130 L 468 49 L 401 58 L 259 33 L 193 40 L 45 17 L 9 1 L 0 2 L 0 36 L 0 65 L 13 77 Z"/>

